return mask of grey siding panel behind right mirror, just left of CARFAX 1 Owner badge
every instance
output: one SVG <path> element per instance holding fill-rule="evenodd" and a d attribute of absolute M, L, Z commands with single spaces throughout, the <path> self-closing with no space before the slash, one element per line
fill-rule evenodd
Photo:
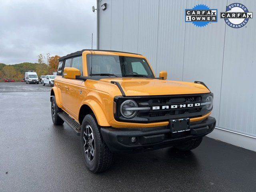
<path fill-rule="evenodd" d="M 161 0 L 159 7 L 156 75 L 167 70 L 168 79 L 182 80 L 186 1 Z"/>

